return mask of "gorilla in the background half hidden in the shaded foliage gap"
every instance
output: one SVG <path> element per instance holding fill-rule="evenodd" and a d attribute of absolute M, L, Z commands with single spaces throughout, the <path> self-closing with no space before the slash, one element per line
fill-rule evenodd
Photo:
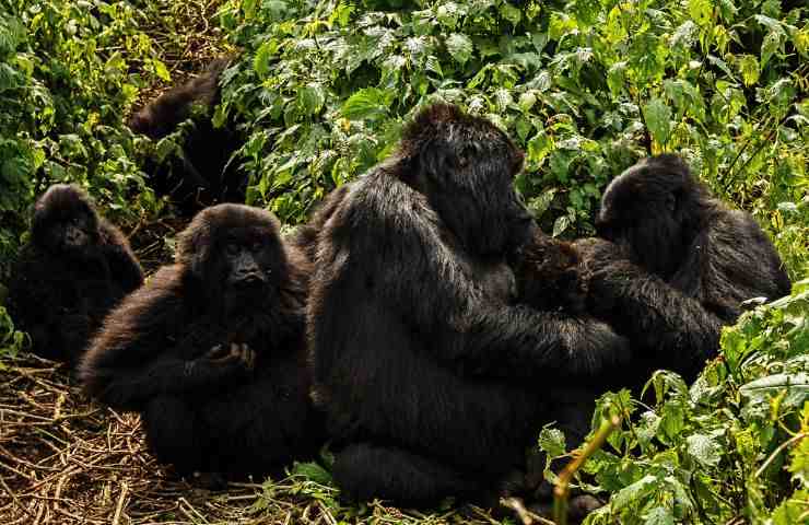
<path fill-rule="evenodd" d="M 191 129 L 178 137 L 179 152 L 163 161 L 149 159 L 144 166 L 157 195 L 171 196 L 186 213 L 216 201 L 244 200 L 246 179 L 231 162 L 241 145 L 239 137 L 230 126 L 215 127 L 211 115 L 220 100 L 220 78 L 230 61 L 214 60 L 202 74 L 160 95 L 128 121 L 132 131 L 160 140 L 191 119 Z"/>

